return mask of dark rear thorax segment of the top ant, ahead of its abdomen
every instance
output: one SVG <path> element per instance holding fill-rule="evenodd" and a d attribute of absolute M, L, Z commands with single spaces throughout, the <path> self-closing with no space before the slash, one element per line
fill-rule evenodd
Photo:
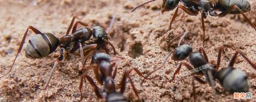
<path fill-rule="evenodd" d="M 208 0 L 201 0 L 196 3 L 199 10 L 207 12 L 213 11 L 213 4 Z"/>

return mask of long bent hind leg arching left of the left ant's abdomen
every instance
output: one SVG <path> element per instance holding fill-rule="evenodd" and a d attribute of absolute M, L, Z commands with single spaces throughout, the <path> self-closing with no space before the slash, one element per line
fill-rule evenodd
<path fill-rule="evenodd" d="M 15 57 L 13 63 L 12 63 L 11 68 L 9 69 L 9 71 L 8 71 L 6 74 L 4 74 L 3 76 L 1 76 L 0 78 L 6 76 L 8 73 L 10 73 L 10 72 L 12 71 L 12 67 L 14 66 L 14 63 L 15 63 L 15 61 L 16 61 L 18 55 L 20 54 L 20 51 L 21 51 L 21 49 L 22 49 L 22 47 L 23 47 L 23 45 L 24 45 L 25 39 L 26 39 L 27 34 L 28 34 L 28 29 L 31 29 L 31 30 L 32 30 L 34 33 L 36 33 L 36 34 L 41 34 L 41 32 L 40 32 L 39 30 L 37 30 L 36 28 L 34 28 L 33 26 L 28 26 L 26 32 L 25 32 L 24 35 L 23 35 L 23 38 L 22 38 L 21 43 L 20 43 L 20 47 L 19 47 L 19 49 L 18 49 L 17 55 L 16 55 L 16 57 Z"/>

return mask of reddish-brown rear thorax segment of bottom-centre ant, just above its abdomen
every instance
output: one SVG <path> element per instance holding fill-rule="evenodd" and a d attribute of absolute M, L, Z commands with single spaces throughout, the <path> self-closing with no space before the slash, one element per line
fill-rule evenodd
<path fill-rule="evenodd" d="M 103 86 L 104 86 L 106 92 L 114 92 L 114 91 L 116 91 L 115 82 L 112 79 L 112 77 L 106 77 L 104 82 L 103 82 Z"/>

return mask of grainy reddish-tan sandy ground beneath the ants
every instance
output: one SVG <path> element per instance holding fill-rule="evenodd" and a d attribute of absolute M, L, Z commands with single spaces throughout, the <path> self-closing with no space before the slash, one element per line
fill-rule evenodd
<path fill-rule="evenodd" d="M 256 25 L 256 2 L 249 1 L 252 10 L 246 15 Z M 172 30 L 168 31 L 174 11 L 161 14 L 162 0 L 159 0 L 130 13 L 133 7 L 142 2 L 142 0 L 0 0 L 0 74 L 3 75 L 11 67 L 28 25 L 36 27 L 41 32 L 61 37 L 74 14 L 78 15 L 81 21 L 88 23 L 89 28 L 99 25 L 107 29 L 111 19 L 116 17 L 109 35 L 118 55 L 126 58 L 118 61 L 116 84 L 121 81 L 124 71 L 132 67 L 139 69 L 144 75 L 158 68 L 164 56 L 177 46 L 177 41 L 174 43 L 169 41 L 186 30 L 190 33 L 184 43 L 192 45 L 194 51 L 202 45 L 200 15 L 194 17 L 185 14 L 184 18 L 178 16 L 176 18 L 178 21 L 175 21 Z M 182 11 L 178 14 L 181 15 Z M 205 28 L 207 39 L 205 51 L 211 64 L 216 65 L 218 48 L 222 44 L 230 44 L 242 50 L 250 60 L 256 62 L 256 32 L 242 15 L 228 15 L 223 18 L 208 16 L 205 19 Z M 29 31 L 28 38 L 33 34 Z M 225 49 L 220 68 L 228 65 L 233 53 L 234 51 Z M 42 59 L 29 59 L 22 50 L 12 72 L 0 79 L 0 101 L 41 101 L 44 84 L 58 55 L 59 53 L 55 53 Z M 218 101 L 256 101 L 256 70 L 252 69 L 241 56 L 238 57 L 235 67 L 248 75 L 252 99 L 235 100 L 233 95 L 224 91 L 216 81 Z M 129 81 L 125 96 L 132 102 L 192 101 L 191 76 L 170 81 L 176 68 L 174 61 L 169 59 L 166 66 L 153 74 L 142 86 L 139 85 L 142 78 L 133 72 L 131 77 L 139 91 L 140 99 L 134 95 Z M 181 71 L 185 70 L 188 69 L 182 67 Z M 89 72 L 94 76 L 93 70 Z M 79 101 L 78 85 L 81 76 L 72 77 L 79 73 L 81 73 L 80 56 L 70 55 L 69 59 L 60 62 L 47 89 L 47 101 Z M 196 82 L 196 86 L 198 86 L 196 101 L 214 101 L 209 84 Z M 91 95 L 92 99 L 88 99 L 91 92 L 89 85 L 83 88 L 83 92 L 85 98 L 82 101 L 102 101 L 95 97 L 94 93 Z"/>

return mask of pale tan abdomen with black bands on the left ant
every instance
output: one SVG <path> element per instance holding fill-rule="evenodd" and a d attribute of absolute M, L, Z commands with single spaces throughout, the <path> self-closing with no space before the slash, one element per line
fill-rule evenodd
<path fill-rule="evenodd" d="M 58 47 L 60 40 L 51 33 L 36 34 L 29 39 L 25 47 L 28 58 L 41 58 L 52 54 Z"/>

